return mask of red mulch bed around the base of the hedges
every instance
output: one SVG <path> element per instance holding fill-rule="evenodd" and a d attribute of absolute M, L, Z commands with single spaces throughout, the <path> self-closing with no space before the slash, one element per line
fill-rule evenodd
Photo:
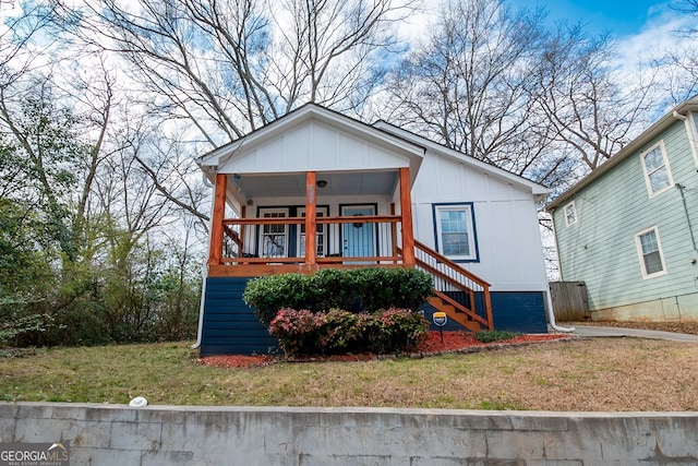
<path fill-rule="evenodd" d="M 531 343 L 551 342 L 561 338 L 569 338 L 568 334 L 547 333 L 547 334 L 524 334 L 515 338 L 481 343 L 473 338 L 471 333 L 466 332 L 444 332 L 443 343 L 438 332 L 429 332 L 426 340 L 420 345 L 418 350 L 410 356 L 424 357 L 441 355 L 443 353 L 470 353 L 481 349 L 492 349 L 508 346 L 519 346 Z M 249 368 L 253 366 L 266 366 L 275 361 L 287 362 L 311 362 L 311 361 L 368 361 L 371 359 L 382 359 L 394 357 L 392 355 L 374 355 L 374 354 L 348 354 L 336 356 L 314 356 L 306 358 L 286 359 L 275 356 L 208 356 L 201 358 L 200 361 L 204 366 L 215 366 L 219 368 Z"/>

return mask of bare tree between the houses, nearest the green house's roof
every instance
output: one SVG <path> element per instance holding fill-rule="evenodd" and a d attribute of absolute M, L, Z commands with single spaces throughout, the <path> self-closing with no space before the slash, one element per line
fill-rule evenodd
<path fill-rule="evenodd" d="M 654 72 L 638 64 L 633 80 L 612 67 L 610 36 L 587 36 L 559 25 L 537 69 L 538 109 L 554 129 L 551 144 L 571 148 L 593 170 L 613 156 L 654 117 Z M 649 73 L 647 72 L 649 71 Z"/>

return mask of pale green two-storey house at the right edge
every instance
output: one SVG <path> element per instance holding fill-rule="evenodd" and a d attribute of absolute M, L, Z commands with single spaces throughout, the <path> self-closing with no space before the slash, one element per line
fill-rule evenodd
<path fill-rule="evenodd" d="M 698 98 L 547 205 L 593 320 L 698 320 Z"/>

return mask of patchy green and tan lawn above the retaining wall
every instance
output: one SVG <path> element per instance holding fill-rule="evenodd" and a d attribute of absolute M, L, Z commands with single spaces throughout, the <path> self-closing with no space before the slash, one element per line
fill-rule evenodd
<path fill-rule="evenodd" d="M 698 410 L 698 345 L 574 339 L 423 359 L 216 368 L 191 343 L 0 357 L 0 401 L 151 405 Z"/>

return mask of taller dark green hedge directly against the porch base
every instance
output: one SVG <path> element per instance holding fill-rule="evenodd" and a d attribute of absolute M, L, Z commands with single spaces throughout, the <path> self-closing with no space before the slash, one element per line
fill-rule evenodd
<path fill-rule="evenodd" d="M 313 275 L 281 274 L 248 283 L 244 301 L 264 325 L 285 308 L 311 312 L 344 309 L 376 312 L 399 308 L 417 311 L 431 296 L 431 275 L 416 268 L 325 268 Z"/>

